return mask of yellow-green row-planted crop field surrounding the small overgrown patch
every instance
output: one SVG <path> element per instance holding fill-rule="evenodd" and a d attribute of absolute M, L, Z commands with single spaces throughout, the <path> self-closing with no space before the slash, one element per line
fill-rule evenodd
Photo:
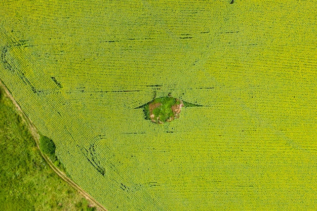
<path fill-rule="evenodd" d="M 316 1 L 0 8 L 0 79 L 109 211 L 317 209 Z M 146 119 L 169 94 L 201 106 Z"/>

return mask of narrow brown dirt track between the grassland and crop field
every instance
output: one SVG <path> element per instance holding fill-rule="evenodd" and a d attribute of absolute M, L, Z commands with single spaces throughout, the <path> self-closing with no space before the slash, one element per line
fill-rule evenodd
<path fill-rule="evenodd" d="M 4 91 L 6 92 L 7 97 L 9 97 L 11 99 L 11 101 L 13 102 L 13 104 L 16 106 L 16 108 L 18 109 L 19 114 L 22 116 L 22 118 L 25 120 L 25 122 L 29 125 L 29 129 L 31 131 L 31 134 L 36 142 L 37 148 L 39 150 L 39 152 L 41 152 L 41 155 L 44 157 L 44 159 L 47 161 L 47 163 L 51 166 L 51 168 L 53 169 L 54 172 L 56 172 L 56 174 L 62 178 L 64 181 L 66 181 L 70 186 L 72 186 L 73 188 L 75 188 L 81 195 L 83 195 L 87 200 L 89 200 L 91 202 L 92 205 L 96 206 L 98 211 L 107 211 L 106 208 L 104 208 L 98 201 L 96 201 L 92 196 L 90 196 L 87 192 L 85 192 L 80 186 L 78 186 L 76 183 L 74 183 L 73 181 L 71 181 L 66 175 L 65 173 L 61 172 L 59 170 L 59 168 L 57 168 L 52 162 L 51 160 L 42 153 L 42 151 L 39 149 L 39 134 L 37 133 L 37 129 L 35 128 L 34 124 L 31 122 L 31 120 L 25 115 L 25 113 L 21 110 L 19 104 L 15 101 L 15 99 L 13 98 L 13 96 L 11 95 L 11 93 L 9 92 L 9 90 L 7 89 L 7 87 L 4 85 L 4 83 L 0 80 L 0 86 L 4 89 Z"/>

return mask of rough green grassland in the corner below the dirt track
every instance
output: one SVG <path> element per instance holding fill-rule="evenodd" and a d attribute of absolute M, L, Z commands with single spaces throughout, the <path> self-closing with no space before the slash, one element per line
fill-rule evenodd
<path fill-rule="evenodd" d="M 47 164 L 25 121 L 1 89 L 0 93 L 1 210 L 95 210 Z"/>

